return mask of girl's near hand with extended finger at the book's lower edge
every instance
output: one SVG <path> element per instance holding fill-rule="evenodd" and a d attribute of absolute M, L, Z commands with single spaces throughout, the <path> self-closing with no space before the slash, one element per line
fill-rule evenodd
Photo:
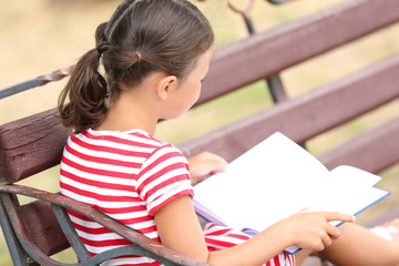
<path fill-rule="evenodd" d="M 341 213 L 300 212 L 283 222 L 288 226 L 284 234 L 293 237 L 291 243 L 297 247 L 320 252 L 340 236 L 339 227 L 329 224 L 332 221 L 355 222 L 355 218 Z"/>

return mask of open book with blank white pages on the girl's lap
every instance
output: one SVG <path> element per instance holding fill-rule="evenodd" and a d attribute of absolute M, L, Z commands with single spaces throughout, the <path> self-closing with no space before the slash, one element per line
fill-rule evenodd
<path fill-rule="evenodd" d="M 277 132 L 229 163 L 225 172 L 197 184 L 194 206 L 208 222 L 252 234 L 306 207 L 357 215 L 390 194 L 374 187 L 379 180 L 352 166 L 328 171 Z"/>

